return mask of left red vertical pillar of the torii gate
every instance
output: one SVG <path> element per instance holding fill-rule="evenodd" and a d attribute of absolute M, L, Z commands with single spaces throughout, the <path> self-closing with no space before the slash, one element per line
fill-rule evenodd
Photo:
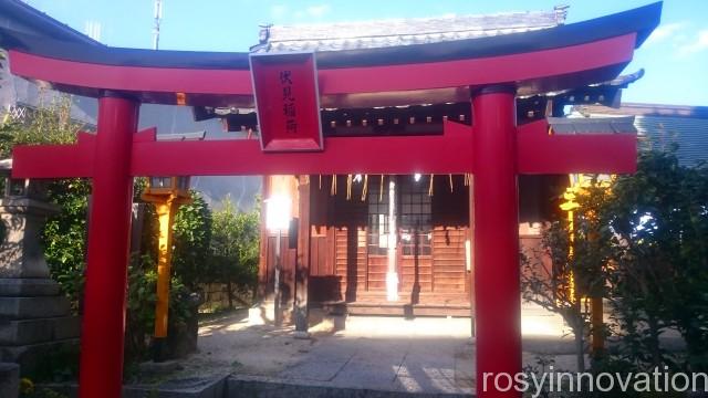
<path fill-rule="evenodd" d="M 98 100 L 88 261 L 81 332 L 81 398 L 119 398 L 131 231 L 131 151 L 139 104 Z"/>

